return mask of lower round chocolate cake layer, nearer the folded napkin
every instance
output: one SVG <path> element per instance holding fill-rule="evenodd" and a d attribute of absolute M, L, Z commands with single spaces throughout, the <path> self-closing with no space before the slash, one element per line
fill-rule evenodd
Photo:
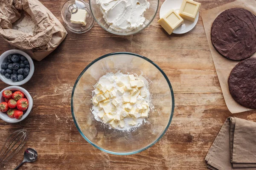
<path fill-rule="evenodd" d="M 239 62 L 228 79 L 230 94 L 236 102 L 247 108 L 256 108 L 256 58 Z"/>

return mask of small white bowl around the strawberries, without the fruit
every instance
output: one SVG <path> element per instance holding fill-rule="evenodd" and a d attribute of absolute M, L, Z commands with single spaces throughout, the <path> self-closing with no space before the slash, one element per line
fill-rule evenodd
<path fill-rule="evenodd" d="M 26 110 L 25 113 L 23 113 L 23 116 L 20 118 L 20 119 L 15 119 L 15 118 L 10 118 L 7 113 L 4 113 L 4 112 L 0 112 L 0 118 L 6 122 L 9 122 L 9 123 L 17 123 L 17 122 L 20 122 L 22 120 L 24 120 L 26 118 L 26 116 L 29 115 L 32 107 L 33 107 L 33 99 L 32 97 L 30 96 L 29 92 L 26 91 L 24 88 L 21 88 L 19 86 L 9 86 L 7 88 L 4 88 L 1 92 L 0 92 L 0 102 L 4 102 L 4 97 L 2 96 L 3 94 L 3 91 L 5 90 L 9 90 L 9 91 L 21 91 L 25 96 L 26 98 L 28 99 L 29 101 L 29 107 L 28 109 Z"/>

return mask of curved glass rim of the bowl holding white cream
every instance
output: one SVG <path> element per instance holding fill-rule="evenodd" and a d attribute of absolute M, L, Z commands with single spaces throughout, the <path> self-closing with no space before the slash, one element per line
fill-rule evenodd
<path fill-rule="evenodd" d="M 157 15 L 158 7 L 159 7 L 159 0 L 157 0 L 157 10 L 155 11 L 155 14 L 154 14 L 153 18 L 151 19 L 151 21 L 149 21 L 147 25 L 145 25 L 144 27 L 140 28 L 138 31 L 135 31 L 135 32 L 133 32 L 133 33 L 120 33 L 120 34 L 119 34 L 119 33 L 116 33 L 116 32 L 113 32 L 113 31 L 110 31 L 110 30 L 106 29 L 104 26 L 102 26 L 102 24 L 100 24 L 100 23 L 98 22 L 98 20 L 96 19 L 96 17 L 94 17 L 93 10 L 92 10 L 92 7 L 91 7 L 91 0 L 89 0 L 89 6 L 90 6 L 90 11 L 91 11 L 91 13 L 92 13 L 92 15 L 93 15 L 93 18 L 94 18 L 94 20 L 96 20 L 96 22 L 99 24 L 99 26 L 101 26 L 103 29 L 105 29 L 106 31 L 108 31 L 108 32 L 110 32 L 110 33 L 112 33 L 112 34 L 126 36 L 126 35 L 137 34 L 137 33 L 139 33 L 140 31 L 142 31 L 143 29 L 147 28 L 147 27 L 152 23 L 152 21 L 154 20 L 154 18 L 155 18 L 156 15 Z"/>

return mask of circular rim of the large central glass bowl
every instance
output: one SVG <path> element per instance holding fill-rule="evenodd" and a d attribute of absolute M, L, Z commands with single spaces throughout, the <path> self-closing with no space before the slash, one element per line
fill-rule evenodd
<path fill-rule="evenodd" d="M 105 150 L 102 147 L 99 147 L 96 144 L 94 144 L 93 142 L 91 142 L 84 135 L 84 133 L 82 133 L 81 129 L 79 128 L 78 123 L 76 122 L 76 118 L 75 118 L 74 110 L 73 110 L 73 96 L 74 96 L 74 92 L 75 92 L 75 89 L 76 89 L 76 85 L 79 82 L 79 80 L 82 77 L 82 75 L 84 74 L 84 72 L 87 71 L 87 69 L 90 68 L 90 66 L 92 66 L 94 63 L 98 62 L 99 60 L 104 59 L 104 58 L 109 57 L 109 56 L 118 55 L 118 54 L 128 54 L 128 55 L 132 55 L 132 56 L 135 56 L 135 57 L 140 57 L 140 58 L 145 59 L 146 61 L 150 62 L 152 65 L 154 65 L 162 73 L 163 77 L 166 79 L 166 82 L 169 85 L 169 88 L 170 88 L 170 91 L 171 91 L 171 96 L 172 96 L 172 110 L 171 110 L 169 122 L 168 122 L 167 126 L 165 127 L 165 129 L 163 130 L 163 132 L 160 134 L 160 136 L 157 139 L 155 139 L 153 142 L 151 142 L 151 144 L 148 144 L 146 147 L 143 147 L 140 150 L 136 150 L 136 151 L 133 151 L 133 152 L 126 152 L 126 153 L 119 153 L 119 152 L 112 152 L 112 151 L 109 151 L 109 150 Z M 171 85 L 171 82 L 169 81 L 168 77 L 166 76 L 166 74 L 163 72 L 163 70 L 156 63 L 154 63 L 153 61 L 151 61 L 147 57 L 144 57 L 144 56 L 141 56 L 141 55 L 135 54 L 135 53 L 130 53 L 130 52 L 114 52 L 114 53 L 109 53 L 109 54 L 105 54 L 102 57 L 99 57 L 99 58 L 93 60 L 92 62 L 90 62 L 90 64 L 88 64 L 84 68 L 84 70 L 81 72 L 81 74 L 79 74 L 79 77 L 76 79 L 76 82 L 75 82 L 75 84 L 73 86 L 72 95 L 71 95 L 71 113 L 72 113 L 73 121 L 74 121 L 74 123 L 76 125 L 76 128 L 78 129 L 78 131 L 81 134 L 81 136 L 83 136 L 83 138 L 89 144 L 93 145 L 97 149 L 102 150 L 102 151 L 104 151 L 106 153 L 114 154 L 114 155 L 131 155 L 131 154 L 135 154 L 135 153 L 140 153 L 141 151 L 146 150 L 149 147 L 153 146 L 155 143 L 157 143 L 163 137 L 163 135 L 166 133 L 167 129 L 169 128 L 169 126 L 170 126 L 170 124 L 172 122 L 172 117 L 173 117 L 173 114 L 174 114 L 174 108 L 175 108 L 175 101 L 174 101 L 174 93 L 173 93 L 172 85 Z"/>

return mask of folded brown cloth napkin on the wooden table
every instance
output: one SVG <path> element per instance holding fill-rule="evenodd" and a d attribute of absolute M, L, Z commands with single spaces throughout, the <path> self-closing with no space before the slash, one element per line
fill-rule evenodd
<path fill-rule="evenodd" d="M 256 122 L 227 118 L 205 160 L 212 170 L 256 170 Z"/>

